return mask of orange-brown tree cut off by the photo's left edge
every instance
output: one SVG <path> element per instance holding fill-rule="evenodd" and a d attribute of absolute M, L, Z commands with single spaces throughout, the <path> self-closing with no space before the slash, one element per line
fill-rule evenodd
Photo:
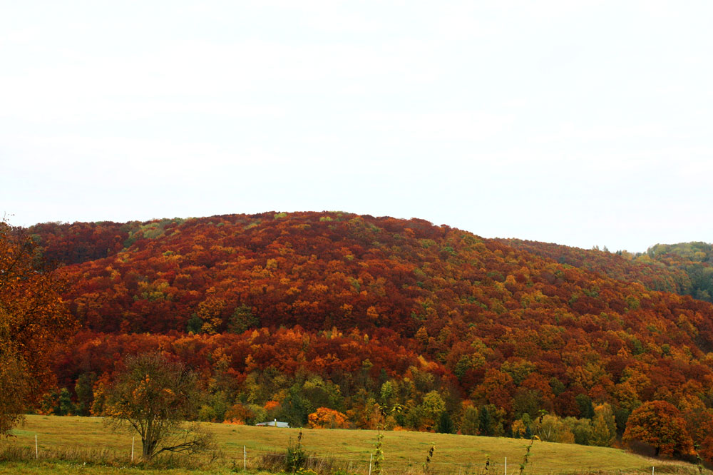
<path fill-rule="evenodd" d="M 37 251 L 22 230 L 0 220 L 0 437 L 53 383 L 53 345 L 73 328 L 62 282 L 39 266 Z"/>

